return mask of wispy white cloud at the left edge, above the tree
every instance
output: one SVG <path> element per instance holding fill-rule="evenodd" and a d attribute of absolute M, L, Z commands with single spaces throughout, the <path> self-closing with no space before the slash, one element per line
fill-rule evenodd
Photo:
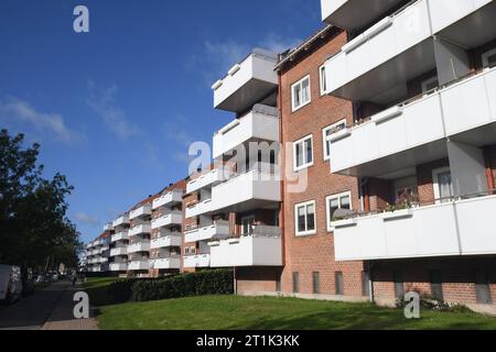
<path fill-rule="evenodd" d="M 18 98 L 0 101 L 0 118 L 29 124 L 42 139 L 55 139 L 67 144 L 85 140 L 82 132 L 71 130 L 65 124 L 62 114 L 37 111 L 28 101 Z"/>

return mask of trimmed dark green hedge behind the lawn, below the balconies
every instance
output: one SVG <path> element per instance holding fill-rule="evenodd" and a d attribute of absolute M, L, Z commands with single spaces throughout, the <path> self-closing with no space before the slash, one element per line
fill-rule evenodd
<path fill-rule="evenodd" d="M 215 270 L 177 275 L 173 277 L 134 280 L 130 287 L 130 300 L 149 301 L 234 293 L 231 270 Z"/>

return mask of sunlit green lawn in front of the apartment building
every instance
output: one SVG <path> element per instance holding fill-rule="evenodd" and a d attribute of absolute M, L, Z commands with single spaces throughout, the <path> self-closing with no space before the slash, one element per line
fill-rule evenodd
<path fill-rule="evenodd" d="M 277 297 L 207 296 L 101 307 L 108 330 L 225 329 L 496 329 L 476 314 L 423 311 L 407 320 L 400 309 Z"/>

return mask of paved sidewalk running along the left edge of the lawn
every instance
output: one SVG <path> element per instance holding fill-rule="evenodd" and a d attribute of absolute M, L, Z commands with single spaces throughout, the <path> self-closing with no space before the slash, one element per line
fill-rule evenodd
<path fill-rule="evenodd" d="M 73 301 L 73 297 L 79 290 L 83 290 L 79 285 L 76 287 L 69 285 L 66 288 L 42 330 L 98 330 L 95 318 L 74 318 L 73 309 L 76 302 Z"/>

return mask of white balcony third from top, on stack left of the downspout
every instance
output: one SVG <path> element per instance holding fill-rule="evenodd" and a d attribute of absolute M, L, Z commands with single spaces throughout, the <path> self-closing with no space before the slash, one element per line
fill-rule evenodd
<path fill-rule="evenodd" d="M 212 210 L 249 211 L 277 207 L 281 185 L 277 175 L 251 170 L 212 188 Z"/>

